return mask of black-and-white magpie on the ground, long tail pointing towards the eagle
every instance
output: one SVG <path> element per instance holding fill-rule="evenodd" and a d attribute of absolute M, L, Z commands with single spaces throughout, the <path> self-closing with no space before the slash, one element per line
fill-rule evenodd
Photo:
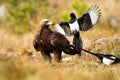
<path fill-rule="evenodd" d="M 120 58 L 117 58 L 111 54 L 99 54 L 99 53 L 93 53 L 93 52 L 87 51 L 85 49 L 82 49 L 82 50 L 96 56 L 98 59 L 100 59 L 100 61 L 103 64 L 107 66 L 120 62 Z"/>

